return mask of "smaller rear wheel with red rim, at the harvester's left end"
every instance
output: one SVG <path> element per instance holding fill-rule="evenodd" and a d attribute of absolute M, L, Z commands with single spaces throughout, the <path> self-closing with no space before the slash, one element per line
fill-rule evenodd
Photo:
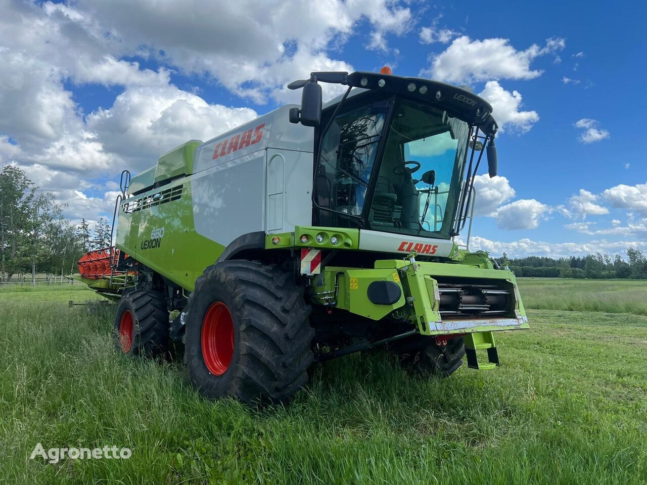
<path fill-rule="evenodd" d="M 122 354 L 157 358 L 168 354 L 169 318 L 166 299 L 158 292 L 135 290 L 117 307 L 114 341 Z"/>

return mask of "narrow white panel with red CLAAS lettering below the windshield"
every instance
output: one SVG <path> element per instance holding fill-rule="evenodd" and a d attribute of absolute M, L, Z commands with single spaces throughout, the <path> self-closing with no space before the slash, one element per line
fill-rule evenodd
<path fill-rule="evenodd" d="M 448 257 L 454 250 L 454 242 L 450 239 L 430 239 L 361 229 L 359 249 L 404 255 L 415 250 L 420 255 Z"/>

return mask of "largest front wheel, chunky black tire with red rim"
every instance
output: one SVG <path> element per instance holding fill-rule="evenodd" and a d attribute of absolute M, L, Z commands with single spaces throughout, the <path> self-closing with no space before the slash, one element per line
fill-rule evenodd
<path fill-rule="evenodd" d="M 278 266 L 213 264 L 188 300 L 184 363 L 204 396 L 245 403 L 289 400 L 313 362 L 311 308 Z"/>

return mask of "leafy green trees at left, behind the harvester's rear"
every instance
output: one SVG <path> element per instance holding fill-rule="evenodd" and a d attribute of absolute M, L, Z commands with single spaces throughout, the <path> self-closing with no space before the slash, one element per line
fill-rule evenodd
<path fill-rule="evenodd" d="M 0 281 L 15 275 L 72 274 L 83 253 L 110 245 L 105 218 L 90 227 L 63 217 L 67 204 L 14 166 L 0 170 Z"/>

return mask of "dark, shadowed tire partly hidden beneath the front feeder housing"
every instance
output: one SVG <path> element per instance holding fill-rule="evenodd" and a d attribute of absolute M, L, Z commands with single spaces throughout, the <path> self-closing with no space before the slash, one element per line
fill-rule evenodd
<path fill-rule="evenodd" d="M 435 340 L 417 351 L 400 354 L 400 363 L 419 376 L 448 377 L 463 363 L 465 343 L 463 338 L 453 338 L 447 345 L 438 345 Z"/>

